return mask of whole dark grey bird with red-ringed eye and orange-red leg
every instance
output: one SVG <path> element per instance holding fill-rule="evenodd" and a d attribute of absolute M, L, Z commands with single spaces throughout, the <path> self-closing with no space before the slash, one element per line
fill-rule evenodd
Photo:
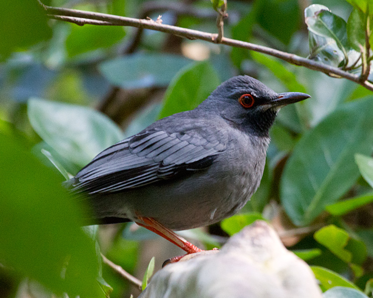
<path fill-rule="evenodd" d="M 309 97 L 231 77 L 196 108 L 103 150 L 65 185 L 88 200 L 90 223 L 132 221 L 199 252 L 175 231 L 236 214 L 260 185 L 278 111 Z"/>

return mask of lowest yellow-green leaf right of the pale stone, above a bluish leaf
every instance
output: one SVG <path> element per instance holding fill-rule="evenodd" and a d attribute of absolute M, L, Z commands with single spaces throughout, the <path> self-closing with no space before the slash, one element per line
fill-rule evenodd
<path fill-rule="evenodd" d="M 359 290 L 359 288 L 353 283 L 349 282 L 347 279 L 333 271 L 319 266 L 311 266 L 311 269 L 316 279 L 320 282 L 320 286 L 324 291 L 337 286 Z"/>

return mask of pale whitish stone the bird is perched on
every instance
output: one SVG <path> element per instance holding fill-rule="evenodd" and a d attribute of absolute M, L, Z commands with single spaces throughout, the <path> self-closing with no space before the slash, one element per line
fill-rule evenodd
<path fill-rule="evenodd" d="M 308 265 L 257 221 L 219 251 L 187 256 L 157 272 L 140 298 L 321 298 Z"/>

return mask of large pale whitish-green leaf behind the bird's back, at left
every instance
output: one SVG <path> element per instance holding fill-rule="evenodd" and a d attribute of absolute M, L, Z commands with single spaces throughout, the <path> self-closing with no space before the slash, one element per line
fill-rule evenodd
<path fill-rule="evenodd" d="M 118 126 L 88 107 L 33 98 L 27 113 L 33 129 L 62 157 L 84 166 L 123 139 Z"/>

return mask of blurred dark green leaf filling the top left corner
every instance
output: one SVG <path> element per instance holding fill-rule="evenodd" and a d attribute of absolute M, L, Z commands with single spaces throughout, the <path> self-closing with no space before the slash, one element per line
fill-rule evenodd
<path fill-rule="evenodd" d="M 52 37 L 45 11 L 37 1 L 1 0 L 0 19 L 0 60 Z"/>

